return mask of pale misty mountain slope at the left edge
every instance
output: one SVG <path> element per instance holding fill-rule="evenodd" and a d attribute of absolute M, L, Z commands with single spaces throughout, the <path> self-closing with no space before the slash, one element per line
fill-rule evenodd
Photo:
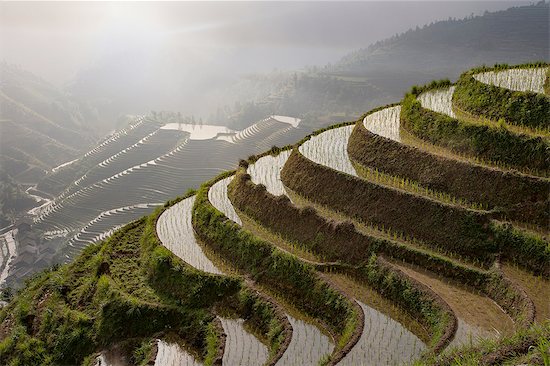
<path fill-rule="evenodd" d="M 17 182 L 33 184 L 97 139 L 92 108 L 32 73 L 0 64 L 0 156 Z"/>

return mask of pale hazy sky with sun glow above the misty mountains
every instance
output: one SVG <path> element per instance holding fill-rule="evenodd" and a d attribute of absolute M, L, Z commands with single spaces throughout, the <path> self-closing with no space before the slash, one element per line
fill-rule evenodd
<path fill-rule="evenodd" d="M 0 59 L 57 84 L 106 64 L 151 77 L 298 68 L 522 3 L 531 2 L 0 2 Z"/>

